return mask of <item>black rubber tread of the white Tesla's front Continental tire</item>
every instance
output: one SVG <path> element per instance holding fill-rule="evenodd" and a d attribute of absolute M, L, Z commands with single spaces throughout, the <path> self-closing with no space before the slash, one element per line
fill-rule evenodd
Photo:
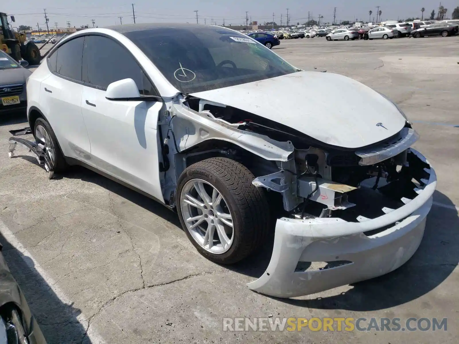
<path fill-rule="evenodd" d="M 241 261 L 258 249 L 266 240 L 269 229 L 269 204 L 264 189 L 257 189 L 252 181 L 255 176 L 241 163 L 223 157 L 213 157 L 196 162 L 188 169 L 202 168 L 213 173 L 232 194 L 236 211 L 242 220 L 242 239 L 240 247 L 236 248 L 235 256 L 226 259 L 224 264 Z M 182 179 L 180 177 L 180 179 Z M 179 194 L 178 190 L 177 194 Z M 228 200 L 230 202 L 230 200 Z M 182 222 L 182 219 L 180 218 Z M 184 228 L 185 229 L 185 228 Z M 185 229 L 186 231 L 186 229 Z M 196 246 L 196 245 L 195 245 Z M 206 255 L 208 257 L 208 255 Z M 208 257 L 209 258 L 209 257 Z"/>

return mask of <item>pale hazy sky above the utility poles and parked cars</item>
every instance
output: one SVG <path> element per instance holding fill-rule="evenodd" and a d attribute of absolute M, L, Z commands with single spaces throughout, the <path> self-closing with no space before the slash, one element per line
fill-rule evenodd
<path fill-rule="evenodd" d="M 129 1 L 129 0 L 128 0 Z M 376 6 L 381 6 L 382 20 L 403 19 L 407 17 L 421 17 L 421 8 L 425 7 L 424 17 L 430 17 L 433 9 L 437 13 L 439 1 L 432 0 L 169 0 L 169 1 L 149 1 L 131 0 L 134 2 L 136 22 L 196 22 L 196 12 L 198 10 L 198 20 L 200 24 L 211 23 L 213 19 L 217 24 L 242 25 L 245 23 L 246 11 L 249 21 L 271 22 L 273 20 L 285 25 L 287 15 L 286 8 L 289 8 L 290 23 L 303 23 L 308 19 L 308 11 L 311 17 L 317 20 L 319 14 L 324 16 L 323 22 L 333 21 L 333 11 L 336 6 L 336 21 L 350 20 L 356 18 L 363 21 L 369 20 L 369 11 L 373 11 L 371 19 L 376 15 Z M 71 26 L 77 28 L 81 25 L 89 24 L 92 26 L 91 19 L 95 19 L 95 25 L 99 27 L 132 23 L 132 6 L 130 2 L 123 0 L 9 0 L 2 1 L 0 11 L 15 15 L 18 25 L 30 25 L 37 28 L 45 28 L 45 18 L 43 9 L 49 17 L 49 25 L 58 27 Z M 459 6 L 459 0 L 443 0 L 442 5 L 448 9 L 447 17 L 451 16 L 453 8 Z"/>

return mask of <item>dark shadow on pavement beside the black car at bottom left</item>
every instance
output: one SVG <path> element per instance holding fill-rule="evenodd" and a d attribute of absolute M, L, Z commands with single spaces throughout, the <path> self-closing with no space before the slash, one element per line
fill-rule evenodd
<path fill-rule="evenodd" d="M 5 257 L 28 306 L 37 320 L 48 344 L 91 343 L 86 328 L 78 322 L 81 314 L 73 304 L 67 305 L 55 294 L 47 281 L 37 272 L 34 262 L 13 247 L 0 233 Z"/>

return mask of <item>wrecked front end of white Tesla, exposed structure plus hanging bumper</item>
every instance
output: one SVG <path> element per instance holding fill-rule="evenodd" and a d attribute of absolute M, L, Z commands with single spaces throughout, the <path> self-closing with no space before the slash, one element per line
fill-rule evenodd
<path fill-rule="evenodd" d="M 271 261 L 250 289 L 282 298 L 313 294 L 391 272 L 419 247 L 437 179 L 411 148 L 419 136 L 408 121 L 383 141 L 349 149 L 193 96 L 166 108 L 162 190 L 169 205 L 180 173 L 214 155 L 240 161 L 256 187 L 282 200 Z"/>

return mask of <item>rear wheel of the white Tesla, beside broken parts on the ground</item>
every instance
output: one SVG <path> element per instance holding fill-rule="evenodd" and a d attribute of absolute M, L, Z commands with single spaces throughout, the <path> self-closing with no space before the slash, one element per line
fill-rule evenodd
<path fill-rule="evenodd" d="M 34 124 L 34 136 L 37 145 L 48 155 L 54 165 L 54 172 L 62 172 L 67 168 L 67 162 L 56 139 L 56 134 L 44 118 L 37 118 Z"/>

